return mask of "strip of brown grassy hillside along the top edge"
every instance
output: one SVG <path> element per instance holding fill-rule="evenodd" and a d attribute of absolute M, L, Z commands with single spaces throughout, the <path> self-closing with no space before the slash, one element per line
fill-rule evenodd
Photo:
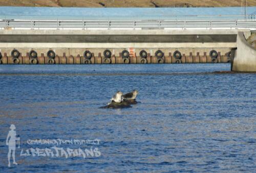
<path fill-rule="evenodd" d="M 245 0 L 0 0 L 0 6 L 30 7 L 234 7 Z M 247 0 L 256 6 L 256 0 Z"/>

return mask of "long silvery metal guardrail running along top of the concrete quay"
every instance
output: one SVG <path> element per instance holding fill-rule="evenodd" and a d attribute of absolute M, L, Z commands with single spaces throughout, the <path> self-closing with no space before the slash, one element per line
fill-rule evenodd
<path fill-rule="evenodd" d="M 254 20 L 0 20 L 0 28 L 12 29 L 256 29 Z"/>

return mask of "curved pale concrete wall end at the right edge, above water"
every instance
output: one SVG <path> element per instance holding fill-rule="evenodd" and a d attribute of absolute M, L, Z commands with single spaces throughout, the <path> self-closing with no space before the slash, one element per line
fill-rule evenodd
<path fill-rule="evenodd" d="M 237 50 L 234 53 L 232 71 L 256 72 L 256 49 L 245 39 L 244 33 L 237 36 Z"/>

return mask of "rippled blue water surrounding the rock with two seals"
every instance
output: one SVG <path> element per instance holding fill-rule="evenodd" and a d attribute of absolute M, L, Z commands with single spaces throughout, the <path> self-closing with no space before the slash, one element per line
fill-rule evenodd
<path fill-rule="evenodd" d="M 0 66 L 1 172 L 253 172 L 256 74 L 230 64 Z M 139 90 L 129 109 L 99 109 L 120 90 Z M 20 148 L 8 168 L 6 137 Z M 28 140 L 99 139 L 99 157 L 20 156 L 50 148 Z"/>

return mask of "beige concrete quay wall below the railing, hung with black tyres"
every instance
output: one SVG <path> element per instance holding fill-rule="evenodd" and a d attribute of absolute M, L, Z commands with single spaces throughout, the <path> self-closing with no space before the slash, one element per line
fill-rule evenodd
<path fill-rule="evenodd" d="M 130 53 L 129 63 L 141 63 L 142 50 L 148 54 L 146 63 L 229 62 L 238 31 L 247 30 L 0 30 L 1 63 L 31 63 L 31 50 L 42 64 L 49 63 L 49 50 L 56 54 L 54 63 L 85 63 L 84 51 L 93 54 L 90 63 L 103 63 L 106 49 L 113 56 L 110 63 L 126 63 L 123 50 Z M 18 61 L 12 50 L 20 53 Z M 164 53 L 162 60 L 155 57 L 158 50 Z M 218 53 L 214 60 L 212 50 Z M 174 58 L 175 51 L 181 53 L 180 61 Z"/>

